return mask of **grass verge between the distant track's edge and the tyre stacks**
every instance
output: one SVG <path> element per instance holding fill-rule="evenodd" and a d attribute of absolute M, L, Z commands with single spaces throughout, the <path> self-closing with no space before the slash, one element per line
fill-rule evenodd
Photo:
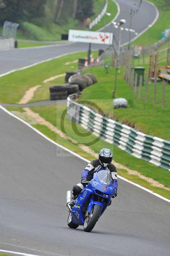
<path fill-rule="evenodd" d="M 98 52 L 92 52 L 94 57 L 97 57 Z M 24 96 L 25 92 L 37 84 L 42 86 L 35 92 L 34 99 L 47 100 L 49 99 L 49 87 L 56 84 L 56 80 L 50 83 L 43 84 L 43 81 L 51 76 L 63 74 L 66 71 L 78 69 L 77 63 L 65 65 L 68 61 L 74 61 L 79 58 L 86 58 L 87 52 L 79 52 L 63 56 L 59 59 L 41 63 L 31 68 L 16 71 L 7 76 L 0 78 L 0 102 L 17 103 Z M 62 78 L 64 83 L 64 77 Z"/>

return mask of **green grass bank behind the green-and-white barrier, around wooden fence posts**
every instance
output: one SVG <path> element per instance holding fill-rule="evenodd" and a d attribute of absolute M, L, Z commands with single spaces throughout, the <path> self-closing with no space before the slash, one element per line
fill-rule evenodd
<path fill-rule="evenodd" d="M 144 65 L 148 68 L 148 65 Z M 133 92 L 128 87 L 128 83 L 123 80 L 123 68 L 118 74 L 118 82 L 116 89 L 116 98 L 126 98 L 128 100 L 128 108 L 114 109 L 112 107 L 112 91 L 114 87 L 115 69 L 110 68 L 109 73 L 105 73 L 105 69 L 101 67 L 88 68 L 87 71 L 97 76 L 98 83 L 85 88 L 82 92 L 81 100 L 91 100 L 96 103 L 104 113 L 114 117 L 114 120 L 127 124 L 138 131 L 146 134 L 157 136 L 159 138 L 170 140 L 169 130 L 169 111 L 170 104 L 168 101 L 170 86 L 166 86 L 166 107 L 160 105 L 162 97 L 162 83 L 158 83 L 157 88 L 157 104 L 152 103 L 153 99 L 153 83 L 149 84 L 149 101 L 145 103 L 134 97 Z M 147 72 L 147 71 L 146 71 Z M 138 91 L 138 89 L 137 89 Z M 145 93 L 145 86 L 142 88 L 142 99 Z"/>

